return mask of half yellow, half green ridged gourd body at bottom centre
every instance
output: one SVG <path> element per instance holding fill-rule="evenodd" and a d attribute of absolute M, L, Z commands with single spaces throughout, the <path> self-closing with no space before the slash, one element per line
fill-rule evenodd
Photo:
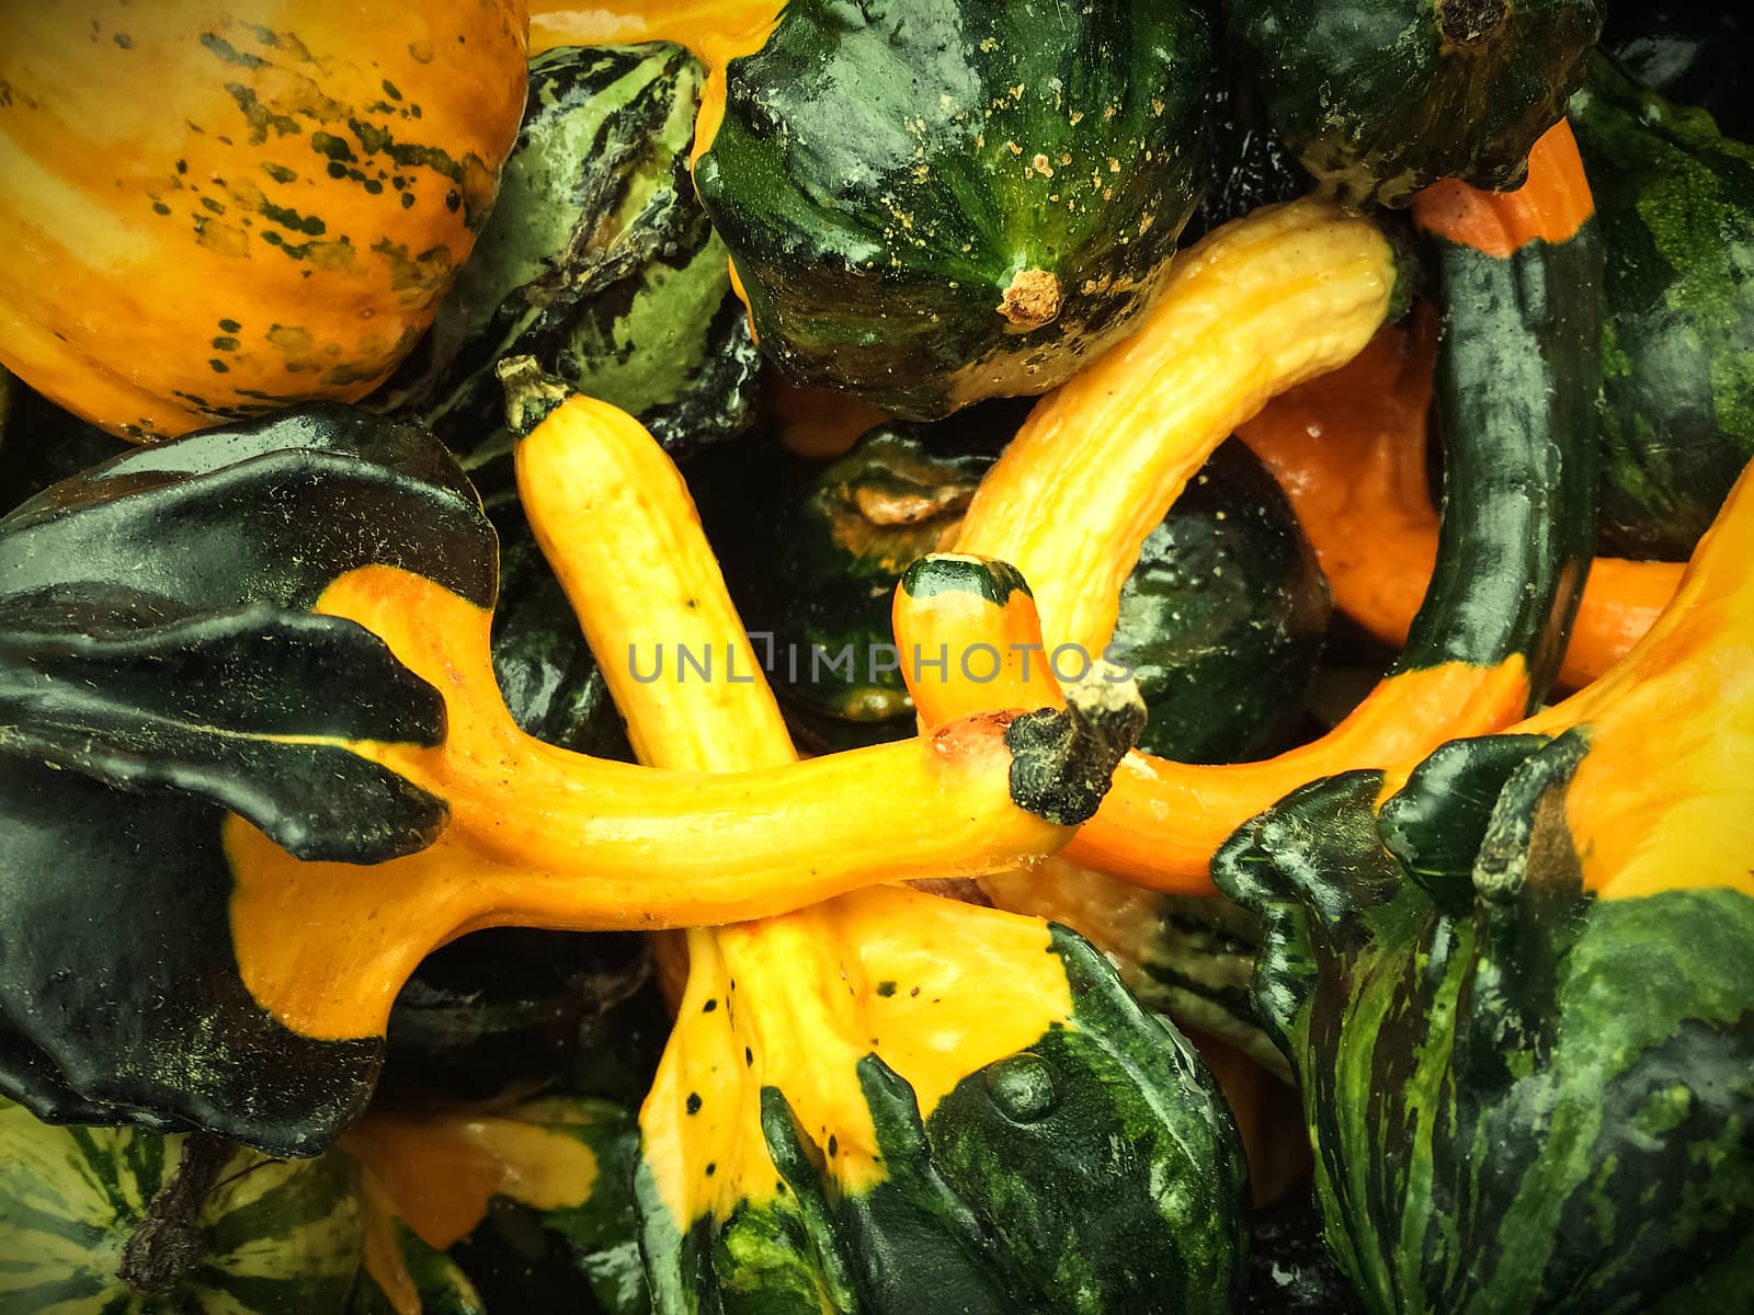
<path fill-rule="evenodd" d="M 900 1313 L 923 1283 L 993 1315 L 1231 1310 L 1235 1126 L 1102 954 L 888 889 L 824 908 L 810 943 L 851 985 L 821 1010 L 784 999 L 793 959 L 744 959 L 733 987 L 726 957 L 723 1003 L 684 1005 L 684 1071 L 652 1101 L 681 1105 L 686 1141 L 647 1134 L 640 1169 L 656 1310 Z M 970 1052 L 995 1057 L 963 1075 Z"/>

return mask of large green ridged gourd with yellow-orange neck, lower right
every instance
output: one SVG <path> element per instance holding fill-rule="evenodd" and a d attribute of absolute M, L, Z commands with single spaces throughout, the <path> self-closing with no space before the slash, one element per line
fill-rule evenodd
<path fill-rule="evenodd" d="M 1586 691 L 1310 784 L 1214 863 L 1266 920 L 1372 1311 L 1733 1310 L 1754 1280 L 1754 480 Z"/>

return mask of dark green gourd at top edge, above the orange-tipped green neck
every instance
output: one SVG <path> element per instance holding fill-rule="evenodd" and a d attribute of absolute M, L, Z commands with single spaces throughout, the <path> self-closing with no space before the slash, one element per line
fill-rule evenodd
<path fill-rule="evenodd" d="M 1508 189 L 1565 116 L 1596 0 L 1233 0 L 1233 56 L 1272 126 L 1354 207 L 1456 177 Z"/>

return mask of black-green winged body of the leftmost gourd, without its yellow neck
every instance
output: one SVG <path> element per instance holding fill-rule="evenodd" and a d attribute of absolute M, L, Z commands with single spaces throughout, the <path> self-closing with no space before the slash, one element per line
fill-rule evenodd
<path fill-rule="evenodd" d="M 456 463 L 339 405 L 132 449 L 0 519 L 0 910 L 32 928 L 0 963 L 7 1096 L 282 1155 L 360 1113 L 382 1041 L 307 1036 L 251 994 L 223 828 L 346 863 L 444 828 L 444 800 L 346 749 L 446 735 L 379 636 L 312 614 L 374 563 L 493 603 Z"/>

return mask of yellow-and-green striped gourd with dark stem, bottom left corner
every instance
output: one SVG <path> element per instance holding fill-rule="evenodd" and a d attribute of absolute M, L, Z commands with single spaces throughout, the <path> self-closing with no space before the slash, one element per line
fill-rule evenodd
<path fill-rule="evenodd" d="M 346 1155 L 53 1127 L 0 1101 L 0 1310 L 333 1315 L 363 1248 Z"/>

